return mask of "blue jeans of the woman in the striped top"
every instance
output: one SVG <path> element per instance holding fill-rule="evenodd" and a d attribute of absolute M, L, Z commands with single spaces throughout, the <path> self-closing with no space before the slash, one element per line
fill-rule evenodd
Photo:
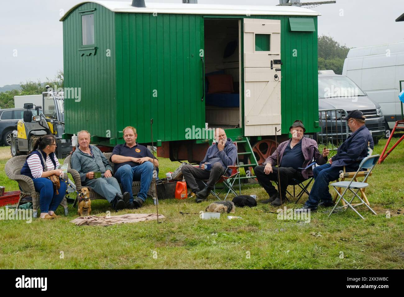
<path fill-rule="evenodd" d="M 66 194 L 67 185 L 63 181 L 60 182 L 59 194 L 53 190 L 53 183 L 46 177 L 32 179 L 34 181 L 35 191 L 39 192 L 39 208 L 41 213 L 48 211 L 56 211 L 57 206 L 62 202 Z"/>

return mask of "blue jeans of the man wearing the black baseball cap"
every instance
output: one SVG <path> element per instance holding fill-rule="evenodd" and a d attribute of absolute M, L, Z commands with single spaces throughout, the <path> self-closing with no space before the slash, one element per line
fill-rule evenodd
<path fill-rule="evenodd" d="M 328 188 L 330 181 L 335 181 L 339 178 L 340 171 L 343 171 L 343 166 L 331 167 L 331 164 L 327 163 L 321 166 L 316 166 L 313 169 L 314 183 L 311 187 L 309 199 L 305 202 L 305 205 L 310 207 L 318 206 L 318 202 L 331 202 L 332 197 Z M 345 171 L 357 171 L 358 165 L 356 166 L 345 166 Z"/>

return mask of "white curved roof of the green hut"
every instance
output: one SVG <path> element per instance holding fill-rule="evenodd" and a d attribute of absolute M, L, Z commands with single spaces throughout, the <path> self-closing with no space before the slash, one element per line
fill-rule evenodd
<path fill-rule="evenodd" d="M 218 4 L 183 4 L 183 3 L 149 3 L 146 2 L 145 8 L 133 7 L 132 1 L 83 1 L 67 11 L 60 19 L 69 15 L 69 13 L 77 6 L 94 2 L 105 6 L 115 13 L 178 13 L 193 15 L 305 15 L 318 16 L 321 15 L 316 11 L 297 6 L 255 6 L 255 5 L 218 5 Z"/>

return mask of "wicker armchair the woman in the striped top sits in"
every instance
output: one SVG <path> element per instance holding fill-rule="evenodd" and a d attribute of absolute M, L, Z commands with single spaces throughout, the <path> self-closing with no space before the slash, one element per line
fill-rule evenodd
<path fill-rule="evenodd" d="M 30 177 L 26 175 L 21 175 L 21 168 L 23 168 L 25 163 L 25 158 L 27 156 L 15 156 L 7 161 L 5 171 L 6 175 L 9 179 L 17 181 L 18 185 L 21 188 L 20 199 L 17 203 L 17 209 L 20 206 L 21 198 L 25 196 L 32 197 L 32 208 L 33 208 L 33 217 L 38 217 L 38 206 L 39 206 L 39 193 L 35 191 L 34 182 Z M 65 215 L 67 215 L 67 200 L 66 197 L 63 198 L 62 202 L 60 203 L 63 206 L 65 211 Z"/>

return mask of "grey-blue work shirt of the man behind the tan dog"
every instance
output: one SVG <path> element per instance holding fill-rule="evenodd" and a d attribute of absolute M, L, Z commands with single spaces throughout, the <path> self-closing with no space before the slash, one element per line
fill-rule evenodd
<path fill-rule="evenodd" d="M 76 150 L 72 154 L 71 165 L 72 168 L 75 169 L 80 174 L 80 180 L 83 182 L 86 180 L 86 173 L 88 172 L 101 172 L 101 177 L 104 177 L 104 173 L 107 170 L 110 170 L 111 173 L 114 173 L 111 165 L 109 164 L 107 158 L 105 158 L 104 154 L 101 150 L 93 145 L 89 145 L 90 151 L 93 153 L 93 156 L 89 154 L 83 153 L 78 146 Z"/>

